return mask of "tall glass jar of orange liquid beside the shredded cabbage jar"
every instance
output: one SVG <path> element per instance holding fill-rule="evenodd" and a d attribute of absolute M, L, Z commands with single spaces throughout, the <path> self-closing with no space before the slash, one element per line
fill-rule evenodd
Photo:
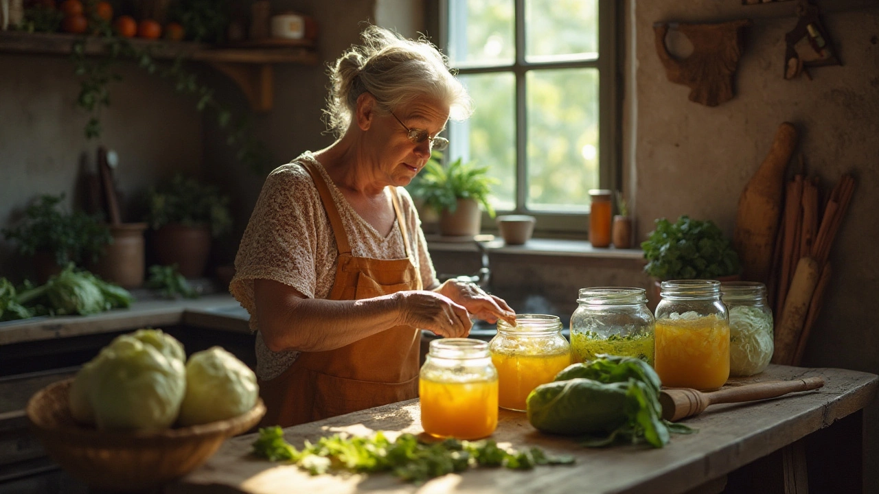
<path fill-rule="evenodd" d="M 715 280 L 663 281 L 654 368 L 663 386 L 716 389 L 730 377 L 730 316 Z"/>

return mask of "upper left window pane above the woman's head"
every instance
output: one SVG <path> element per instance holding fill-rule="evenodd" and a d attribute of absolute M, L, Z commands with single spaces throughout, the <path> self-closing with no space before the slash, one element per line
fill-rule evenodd
<path fill-rule="evenodd" d="M 512 0 L 448 3 L 448 56 L 455 67 L 511 65 L 516 56 Z"/>

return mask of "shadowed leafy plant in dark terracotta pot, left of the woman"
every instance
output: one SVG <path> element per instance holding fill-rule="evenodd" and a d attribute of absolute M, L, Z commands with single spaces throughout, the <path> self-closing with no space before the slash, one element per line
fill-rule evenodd
<path fill-rule="evenodd" d="M 152 249 L 160 265 L 178 265 L 186 278 L 198 278 L 205 271 L 211 251 L 211 237 L 220 236 L 232 225 L 229 197 L 214 185 L 177 175 L 150 189 L 147 222 L 156 230 Z"/>

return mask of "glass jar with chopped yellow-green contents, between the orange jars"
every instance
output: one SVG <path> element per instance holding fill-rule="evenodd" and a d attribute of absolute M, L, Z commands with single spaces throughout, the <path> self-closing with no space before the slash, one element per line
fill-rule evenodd
<path fill-rule="evenodd" d="M 636 357 L 653 365 L 653 314 L 643 288 L 580 288 L 579 304 L 570 316 L 574 360 L 594 360 L 607 353 Z"/>

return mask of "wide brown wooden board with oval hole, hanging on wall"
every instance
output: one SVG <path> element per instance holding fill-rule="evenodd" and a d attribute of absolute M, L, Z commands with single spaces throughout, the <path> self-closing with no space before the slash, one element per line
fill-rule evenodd
<path fill-rule="evenodd" d="M 657 23 L 653 25 L 657 54 L 665 66 L 665 76 L 676 84 L 689 86 L 690 101 L 716 106 L 734 96 L 732 76 L 743 49 L 742 31 L 751 19 L 723 24 Z M 693 43 L 693 54 L 679 60 L 665 47 L 665 35 L 676 29 Z"/>

